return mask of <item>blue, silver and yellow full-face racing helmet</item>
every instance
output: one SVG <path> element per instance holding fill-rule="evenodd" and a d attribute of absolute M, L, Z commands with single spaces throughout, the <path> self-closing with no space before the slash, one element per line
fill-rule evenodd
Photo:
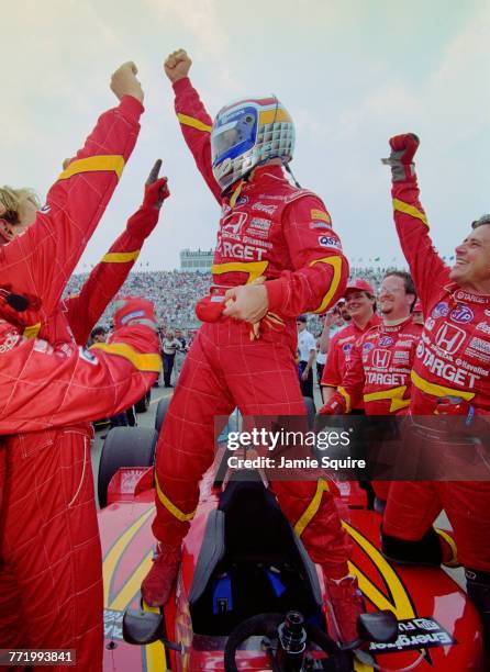
<path fill-rule="evenodd" d="M 272 158 L 288 164 L 293 149 L 292 119 L 275 96 L 222 108 L 211 130 L 213 175 L 222 191 Z"/>

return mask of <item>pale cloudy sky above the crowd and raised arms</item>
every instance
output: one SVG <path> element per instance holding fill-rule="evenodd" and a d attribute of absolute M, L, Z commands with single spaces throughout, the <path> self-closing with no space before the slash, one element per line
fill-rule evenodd
<path fill-rule="evenodd" d="M 490 211 L 490 5 L 480 0 L 54 1 L 2 10 L 0 183 L 44 194 L 66 156 L 113 104 L 110 74 L 140 67 L 146 113 L 137 148 L 79 269 L 96 262 L 141 202 L 155 158 L 172 198 L 140 260 L 178 266 L 182 247 L 214 245 L 218 206 L 172 112 L 165 56 L 187 48 L 211 114 L 230 100 L 275 92 L 297 123 L 291 167 L 328 208 L 352 259 L 401 262 L 389 171 L 394 133 L 422 141 L 422 202 L 442 254 Z"/>

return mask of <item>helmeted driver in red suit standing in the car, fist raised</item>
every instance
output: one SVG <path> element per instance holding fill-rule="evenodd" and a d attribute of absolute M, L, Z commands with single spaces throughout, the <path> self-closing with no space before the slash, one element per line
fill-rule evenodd
<path fill-rule="evenodd" d="M 177 576 L 199 481 L 214 457 L 214 417 L 235 406 L 244 416 L 305 414 L 294 366 L 296 316 L 325 312 L 343 295 L 348 273 L 325 205 L 285 178 L 293 125 L 282 104 L 274 97 L 242 100 L 223 108 L 212 123 L 187 77 L 190 65 L 179 51 L 168 57 L 165 71 L 183 137 L 222 215 L 214 284 L 197 306 L 209 322 L 186 358 L 157 447 L 153 530 L 158 546 L 142 585 L 153 605 L 165 604 Z M 272 488 L 322 565 L 341 638 L 355 639 L 361 605 L 328 484 Z"/>

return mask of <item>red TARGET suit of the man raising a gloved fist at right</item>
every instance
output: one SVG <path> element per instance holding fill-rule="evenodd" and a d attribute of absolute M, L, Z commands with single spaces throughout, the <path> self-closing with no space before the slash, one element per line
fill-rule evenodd
<path fill-rule="evenodd" d="M 394 222 L 422 301 L 425 324 L 412 369 L 412 415 L 430 415 L 437 399 L 468 401 L 490 411 L 490 296 L 463 291 L 432 246 L 416 178 L 393 182 Z M 490 483 L 392 483 L 383 518 L 387 535 L 421 539 L 444 508 L 461 563 L 490 571 Z"/>

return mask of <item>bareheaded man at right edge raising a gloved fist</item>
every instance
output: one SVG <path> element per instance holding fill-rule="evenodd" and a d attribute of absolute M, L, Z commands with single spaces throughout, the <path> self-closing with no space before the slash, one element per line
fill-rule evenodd
<path fill-rule="evenodd" d="M 425 317 L 411 374 L 410 413 L 461 414 L 459 427 L 471 434 L 490 412 L 490 216 L 472 223 L 449 269 L 432 245 L 419 201 L 413 164 L 419 138 L 399 135 L 390 146 L 385 163 L 391 166 L 394 222 Z M 445 436 L 443 443 L 459 440 Z M 434 451 L 441 450 L 435 439 L 432 444 Z M 441 508 L 453 525 L 468 595 L 483 619 L 488 646 L 490 482 L 393 483 L 382 524 L 383 551 L 394 560 L 441 562 L 431 527 Z"/>

